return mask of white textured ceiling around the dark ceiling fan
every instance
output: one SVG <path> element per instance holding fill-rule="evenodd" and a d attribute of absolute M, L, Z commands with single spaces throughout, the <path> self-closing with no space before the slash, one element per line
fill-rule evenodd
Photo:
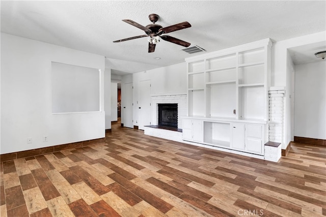
<path fill-rule="evenodd" d="M 188 21 L 191 28 L 167 35 L 211 52 L 322 32 L 325 11 L 326 1 L 1 1 L 1 32 L 104 55 L 106 67 L 124 75 L 181 63 L 200 53 L 188 54 L 163 40 L 148 53 L 147 37 L 113 43 L 144 34 L 122 19 L 146 26 L 151 23 L 148 15 L 155 13 L 163 27 Z M 316 60 L 314 48 L 326 46 L 293 49 L 294 62 Z"/>

